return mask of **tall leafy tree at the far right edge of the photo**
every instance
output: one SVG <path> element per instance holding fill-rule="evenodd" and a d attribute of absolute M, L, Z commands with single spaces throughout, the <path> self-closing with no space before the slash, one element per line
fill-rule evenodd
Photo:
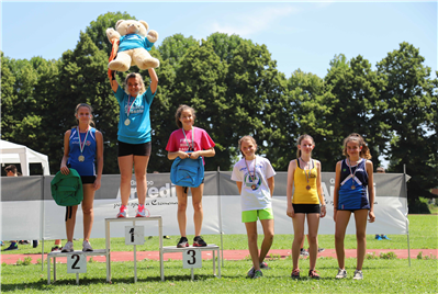
<path fill-rule="evenodd" d="M 378 71 L 388 78 L 382 97 L 388 102 L 384 117 L 391 125 L 390 171 L 407 173 L 408 203 L 419 196 L 435 197 L 428 190 L 438 185 L 437 177 L 437 79 L 424 66 L 419 49 L 408 43 L 388 54 Z"/>

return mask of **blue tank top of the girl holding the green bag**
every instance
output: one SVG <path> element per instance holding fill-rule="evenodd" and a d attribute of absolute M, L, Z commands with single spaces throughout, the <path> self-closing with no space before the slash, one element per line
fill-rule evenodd
<path fill-rule="evenodd" d="M 83 144 L 87 133 L 80 133 L 80 142 Z M 96 176 L 94 159 L 97 155 L 96 144 L 96 128 L 91 127 L 87 136 L 86 146 L 83 147 L 82 156 L 86 158 L 83 161 L 79 161 L 80 145 L 78 137 L 78 129 L 71 128 L 69 138 L 69 152 L 67 165 L 70 165 L 72 169 L 76 169 L 80 176 Z"/>

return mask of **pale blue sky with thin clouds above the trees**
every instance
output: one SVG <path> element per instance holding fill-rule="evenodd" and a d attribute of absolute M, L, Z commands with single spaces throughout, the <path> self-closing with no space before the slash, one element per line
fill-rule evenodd
<path fill-rule="evenodd" d="M 15 59 L 59 58 L 106 12 L 145 20 L 161 41 L 177 33 L 238 34 L 266 44 L 278 69 L 324 77 L 336 54 L 372 65 L 408 42 L 437 70 L 437 2 L 379 1 L 1 1 L 0 49 Z M 433 75 L 435 77 L 435 74 Z"/>

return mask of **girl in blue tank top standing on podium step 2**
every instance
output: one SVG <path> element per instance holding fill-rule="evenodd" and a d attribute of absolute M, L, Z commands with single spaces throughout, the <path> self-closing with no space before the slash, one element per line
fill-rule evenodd
<path fill-rule="evenodd" d="M 72 168 L 78 171 L 82 180 L 82 251 L 93 250 L 89 241 L 94 218 L 93 201 L 94 192 L 100 188 L 103 170 L 103 136 L 102 133 L 90 126 L 90 124 L 94 124 L 91 113 L 92 109 L 87 103 L 80 103 L 76 106 L 75 116 L 78 125 L 68 129 L 64 135 L 64 156 L 60 162 L 60 172 L 63 174 L 69 174 L 69 168 Z M 97 169 L 94 162 L 97 163 Z M 72 238 L 78 205 L 67 208 L 71 211 L 69 212 L 69 217 L 66 215 L 67 244 L 63 247 L 63 252 L 74 251 Z"/>

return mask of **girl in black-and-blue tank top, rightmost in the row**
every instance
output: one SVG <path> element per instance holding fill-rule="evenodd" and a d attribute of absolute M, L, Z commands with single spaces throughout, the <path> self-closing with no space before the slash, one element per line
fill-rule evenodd
<path fill-rule="evenodd" d="M 335 247 L 338 258 L 337 279 L 347 278 L 345 269 L 344 239 L 351 213 L 355 213 L 356 238 L 358 242 L 355 280 L 362 280 L 362 265 L 366 256 L 367 217 L 373 223 L 374 190 L 370 150 L 359 134 L 351 134 L 344 139 L 346 159 L 336 165 L 334 193 Z M 367 199 L 367 194 L 369 199 Z"/>

